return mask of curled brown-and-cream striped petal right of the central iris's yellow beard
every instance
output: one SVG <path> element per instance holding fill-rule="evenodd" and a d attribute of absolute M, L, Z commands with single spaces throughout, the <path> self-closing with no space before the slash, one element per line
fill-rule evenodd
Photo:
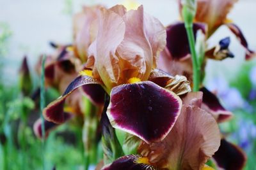
<path fill-rule="evenodd" d="M 160 69 L 154 69 L 148 78 L 165 89 L 172 90 L 178 96 L 191 92 L 190 83 L 185 76 L 171 76 Z"/>

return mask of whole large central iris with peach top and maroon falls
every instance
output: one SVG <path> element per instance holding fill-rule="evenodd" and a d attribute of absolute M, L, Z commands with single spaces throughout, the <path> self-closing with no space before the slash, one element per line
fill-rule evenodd
<path fill-rule="evenodd" d="M 97 24 L 87 69 L 45 108 L 44 117 L 61 124 L 65 99 L 72 92 L 81 87 L 97 103 L 104 89 L 110 96 L 107 115 L 113 127 L 146 143 L 162 141 L 180 115 L 178 95 L 190 91 L 186 77 L 154 69 L 166 43 L 163 25 L 144 13 L 143 6 L 126 11 L 121 5 L 101 8 Z"/>

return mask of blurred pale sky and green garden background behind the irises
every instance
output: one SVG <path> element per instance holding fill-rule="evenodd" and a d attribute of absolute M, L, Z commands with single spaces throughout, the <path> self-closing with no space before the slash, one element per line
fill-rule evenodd
<path fill-rule="evenodd" d="M 177 2 L 174 0 L 141 0 L 136 1 L 143 4 L 144 9 L 150 15 L 158 18 L 164 25 L 172 24 L 179 20 Z M 83 4 L 104 4 L 111 7 L 121 4 L 124 1 L 114 0 L 0 0 L 0 120 L 7 121 L 0 125 L 4 131 L 12 132 L 12 126 L 20 122 L 20 108 L 35 108 L 33 101 L 19 99 L 19 67 L 24 55 L 28 57 L 29 68 L 36 78 L 35 64 L 41 53 L 52 53 L 54 49 L 49 46 L 49 41 L 56 43 L 72 43 L 72 15 L 81 11 Z M 256 50 L 256 1 L 241 0 L 237 2 L 229 13 L 228 18 L 239 25 L 252 50 Z M 220 41 L 221 38 L 230 36 L 230 50 L 235 54 L 234 59 L 223 61 L 209 60 L 206 67 L 205 85 L 216 92 L 221 103 L 235 117 L 227 123 L 221 124 L 221 131 L 227 134 L 227 138 L 241 146 L 248 155 L 248 162 L 245 169 L 256 169 L 256 60 L 245 61 L 244 49 L 239 45 L 236 37 L 223 26 L 209 39 L 209 46 Z M 58 97 L 58 93 L 52 98 Z M 11 115 L 5 120 L 6 114 Z M 38 117 L 38 113 L 35 113 Z M 35 116 L 36 117 L 36 116 Z M 31 120 L 35 120 L 35 117 Z M 13 121 L 12 121 L 13 120 Z M 2 121 L 2 122 L 4 122 Z M 10 123 L 12 122 L 12 124 Z M 14 122 L 14 123 L 13 123 Z M 2 125 L 6 125 L 3 127 Z M 31 162 L 28 169 L 40 169 L 40 140 L 36 139 L 28 123 L 26 142 L 29 145 L 28 153 L 22 155 L 15 148 L 8 148 L 10 169 L 23 169 L 22 161 L 24 156 Z M 9 126 L 8 126 L 9 125 Z M 56 132 L 67 131 L 65 125 Z M 78 133 L 75 127 L 71 128 L 70 138 L 74 132 Z M 72 137 L 73 135 L 73 137 Z M 11 137 L 10 137 L 11 138 Z M 16 138 L 16 137 L 15 137 Z M 18 139 L 13 137 L 13 142 Z M 19 136 L 17 137 L 19 138 Z M 47 144 L 46 159 L 49 160 L 48 168 L 54 164 L 61 164 L 60 169 L 79 169 L 83 164 L 81 155 L 83 152 L 77 150 L 77 146 L 83 148 L 79 141 L 65 141 L 67 138 L 56 139 L 55 134 L 49 136 Z M 18 140 L 19 141 L 19 140 Z M 21 147 L 21 146 L 19 146 Z M 0 169 L 4 160 L 3 148 L 0 148 Z M 29 160 L 29 161 L 30 161 Z M 28 161 L 28 160 L 26 160 Z"/>

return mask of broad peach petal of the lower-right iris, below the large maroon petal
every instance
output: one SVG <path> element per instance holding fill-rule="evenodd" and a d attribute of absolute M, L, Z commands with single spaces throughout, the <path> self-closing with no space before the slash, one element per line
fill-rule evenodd
<path fill-rule="evenodd" d="M 197 170 L 219 146 L 220 131 L 214 118 L 197 106 L 183 105 L 168 136 L 159 143 L 141 143 L 138 153 L 162 169 Z"/>

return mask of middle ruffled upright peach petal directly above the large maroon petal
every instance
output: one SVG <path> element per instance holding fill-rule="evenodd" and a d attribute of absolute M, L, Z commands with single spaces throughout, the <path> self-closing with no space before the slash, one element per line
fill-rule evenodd
<path fill-rule="evenodd" d="M 123 83 L 131 77 L 147 80 L 153 66 L 152 50 L 144 31 L 143 16 L 143 6 L 140 6 L 138 10 L 128 11 L 123 17 L 125 36 L 116 49 L 122 62 L 120 81 Z"/>

